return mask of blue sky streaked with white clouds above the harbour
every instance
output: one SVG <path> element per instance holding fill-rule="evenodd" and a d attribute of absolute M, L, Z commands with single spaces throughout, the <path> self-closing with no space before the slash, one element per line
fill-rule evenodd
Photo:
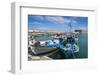
<path fill-rule="evenodd" d="M 29 30 L 68 32 L 75 29 L 87 30 L 87 26 L 88 17 L 28 15 Z"/>

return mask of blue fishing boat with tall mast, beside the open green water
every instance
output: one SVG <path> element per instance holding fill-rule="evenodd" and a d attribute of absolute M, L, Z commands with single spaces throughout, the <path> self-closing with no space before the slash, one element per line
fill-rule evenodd
<path fill-rule="evenodd" d="M 66 38 L 64 41 L 60 43 L 60 49 L 64 53 L 65 58 L 73 57 L 75 58 L 75 53 L 79 55 L 79 46 L 78 46 L 78 38 L 79 32 L 72 31 L 72 19 L 68 24 L 69 32 L 66 34 Z"/>

